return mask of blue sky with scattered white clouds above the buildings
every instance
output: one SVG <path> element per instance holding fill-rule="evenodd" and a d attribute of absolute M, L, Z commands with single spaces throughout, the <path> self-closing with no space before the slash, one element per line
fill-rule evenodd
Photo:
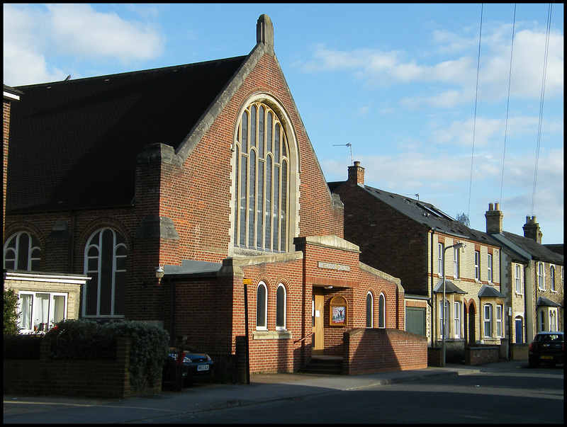
<path fill-rule="evenodd" d="M 367 185 L 466 213 L 474 229 L 499 202 L 506 231 L 522 235 L 535 215 L 542 242 L 563 243 L 563 4 L 548 39 L 549 9 L 4 4 L 4 84 L 247 55 L 267 13 L 327 181 L 360 161 Z"/>

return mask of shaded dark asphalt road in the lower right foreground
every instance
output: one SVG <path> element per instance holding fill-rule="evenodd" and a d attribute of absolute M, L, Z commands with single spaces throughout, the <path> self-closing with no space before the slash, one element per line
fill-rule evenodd
<path fill-rule="evenodd" d="M 344 390 L 147 423 L 563 423 L 563 365 Z"/>

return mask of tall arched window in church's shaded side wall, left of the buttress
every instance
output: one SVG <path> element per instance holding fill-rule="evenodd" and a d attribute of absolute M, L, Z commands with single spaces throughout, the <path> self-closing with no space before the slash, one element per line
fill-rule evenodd
<path fill-rule="evenodd" d="M 91 280 L 83 292 L 84 317 L 123 317 L 125 314 L 128 248 L 111 228 L 96 231 L 84 249 L 84 273 Z"/>

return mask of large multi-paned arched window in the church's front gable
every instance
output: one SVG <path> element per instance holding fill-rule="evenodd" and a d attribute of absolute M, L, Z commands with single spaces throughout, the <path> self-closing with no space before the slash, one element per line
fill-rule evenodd
<path fill-rule="evenodd" d="M 242 112 L 235 141 L 235 246 L 288 250 L 289 149 L 285 127 L 266 103 Z"/>

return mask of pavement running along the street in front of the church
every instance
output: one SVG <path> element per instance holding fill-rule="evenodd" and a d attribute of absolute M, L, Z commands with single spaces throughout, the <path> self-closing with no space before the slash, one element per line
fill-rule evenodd
<path fill-rule="evenodd" d="M 422 380 L 442 375 L 475 375 L 526 368 L 525 360 L 501 360 L 483 365 L 451 365 L 367 375 L 253 374 L 249 385 L 199 384 L 181 392 L 162 392 L 125 399 L 92 399 L 4 395 L 4 423 L 137 423 L 163 421 L 168 416 L 299 399 L 338 390 Z"/>

